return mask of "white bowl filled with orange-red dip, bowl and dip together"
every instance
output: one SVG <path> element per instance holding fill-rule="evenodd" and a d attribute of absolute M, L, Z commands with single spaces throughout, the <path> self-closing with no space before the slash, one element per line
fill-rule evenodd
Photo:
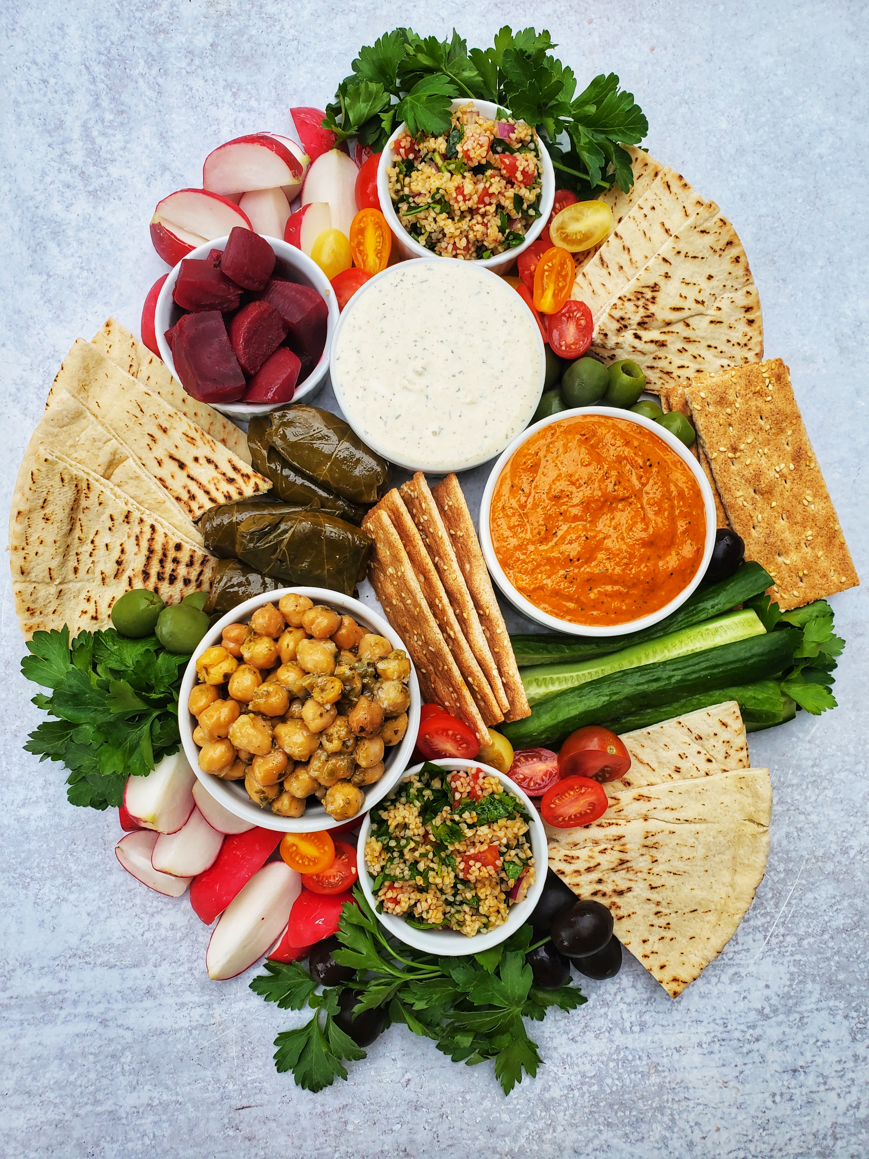
<path fill-rule="evenodd" d="M 583 407 L 528 427 L 489 476 L 480 541 L 528 619 L 574 635 L 657 624 L 700 583 L 715 544 L 692 452 L 629 410 Z"/>

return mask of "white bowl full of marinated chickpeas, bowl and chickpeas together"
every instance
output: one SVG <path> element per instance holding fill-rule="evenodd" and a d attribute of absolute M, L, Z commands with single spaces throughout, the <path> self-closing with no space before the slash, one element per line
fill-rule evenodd
<path fill-rule="evenodd" d="M 316 832 L 362 817 L 397 783 L 419 729 L 400 636 L 358 599 L 271 591 L 203 637 L 178 724 L 207 792 L 251 825 Z"/>

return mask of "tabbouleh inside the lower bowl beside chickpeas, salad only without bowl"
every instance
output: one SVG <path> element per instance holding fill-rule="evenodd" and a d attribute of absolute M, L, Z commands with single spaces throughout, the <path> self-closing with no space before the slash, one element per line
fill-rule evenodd
<path fill-rule="evenodd" d="M 371 826 L 378 909 L 417 930 L 495 930 L 534 882 L 525 807 L 481 768 L 426 763 L 372 810 Z"/>

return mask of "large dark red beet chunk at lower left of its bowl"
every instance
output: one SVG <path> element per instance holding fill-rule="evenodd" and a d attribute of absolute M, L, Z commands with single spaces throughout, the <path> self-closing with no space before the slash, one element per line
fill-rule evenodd
<path fill-rule="evenodd" d="M 192 399 L 235 402 L 244 394 L 244 376 L 219 311 L 182 314 L 173 331 L 175 373 Z"/>

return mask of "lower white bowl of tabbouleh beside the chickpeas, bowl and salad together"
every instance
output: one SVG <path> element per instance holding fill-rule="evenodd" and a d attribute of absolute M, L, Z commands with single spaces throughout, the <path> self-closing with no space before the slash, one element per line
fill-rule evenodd
<path fill-rule="evenodd" d="M 546 831 L 531 800 L 473 760 L 409 768 L 363 822 L 359 884 L 388 933 L 443 956 L 497 946 L 546 882 Z"/>

